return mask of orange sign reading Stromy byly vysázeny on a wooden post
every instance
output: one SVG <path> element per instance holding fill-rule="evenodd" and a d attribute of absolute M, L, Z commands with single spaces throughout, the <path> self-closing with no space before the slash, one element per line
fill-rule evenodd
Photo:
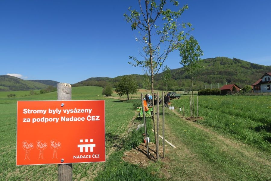
<path fill-rule="evenodd" d="M 104 161 L 104 100 L 17 102 L 17 165 Z"/>

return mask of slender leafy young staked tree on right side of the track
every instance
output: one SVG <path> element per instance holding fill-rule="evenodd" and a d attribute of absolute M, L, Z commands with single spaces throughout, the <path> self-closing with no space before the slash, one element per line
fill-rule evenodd
<path fill-rule="evenodd" d="M 203 51 L 201 50 L 198 41 L 195 40 L 193 36 L 191 36 L 189 40 L 185 40 L 184 44 L 179 50 L 180 56 L 182 58 L 180 64 L 183 65 L 191 80 L 193 117 L 195 117 L 193 80 L 198 73 L 198 70 L 201 68 L 200 63 L 202 62 L 202 60 L 200 59 L 200 57 L 203 56 Z"/>

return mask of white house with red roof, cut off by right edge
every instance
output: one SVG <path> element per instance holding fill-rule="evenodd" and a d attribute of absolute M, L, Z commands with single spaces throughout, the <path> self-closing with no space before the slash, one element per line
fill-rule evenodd
<path fill-rule="evenodd" d="M 257 82 L 252 84 L 255 93 L 271 92 L 271 72 L 265 73 Z"/>

